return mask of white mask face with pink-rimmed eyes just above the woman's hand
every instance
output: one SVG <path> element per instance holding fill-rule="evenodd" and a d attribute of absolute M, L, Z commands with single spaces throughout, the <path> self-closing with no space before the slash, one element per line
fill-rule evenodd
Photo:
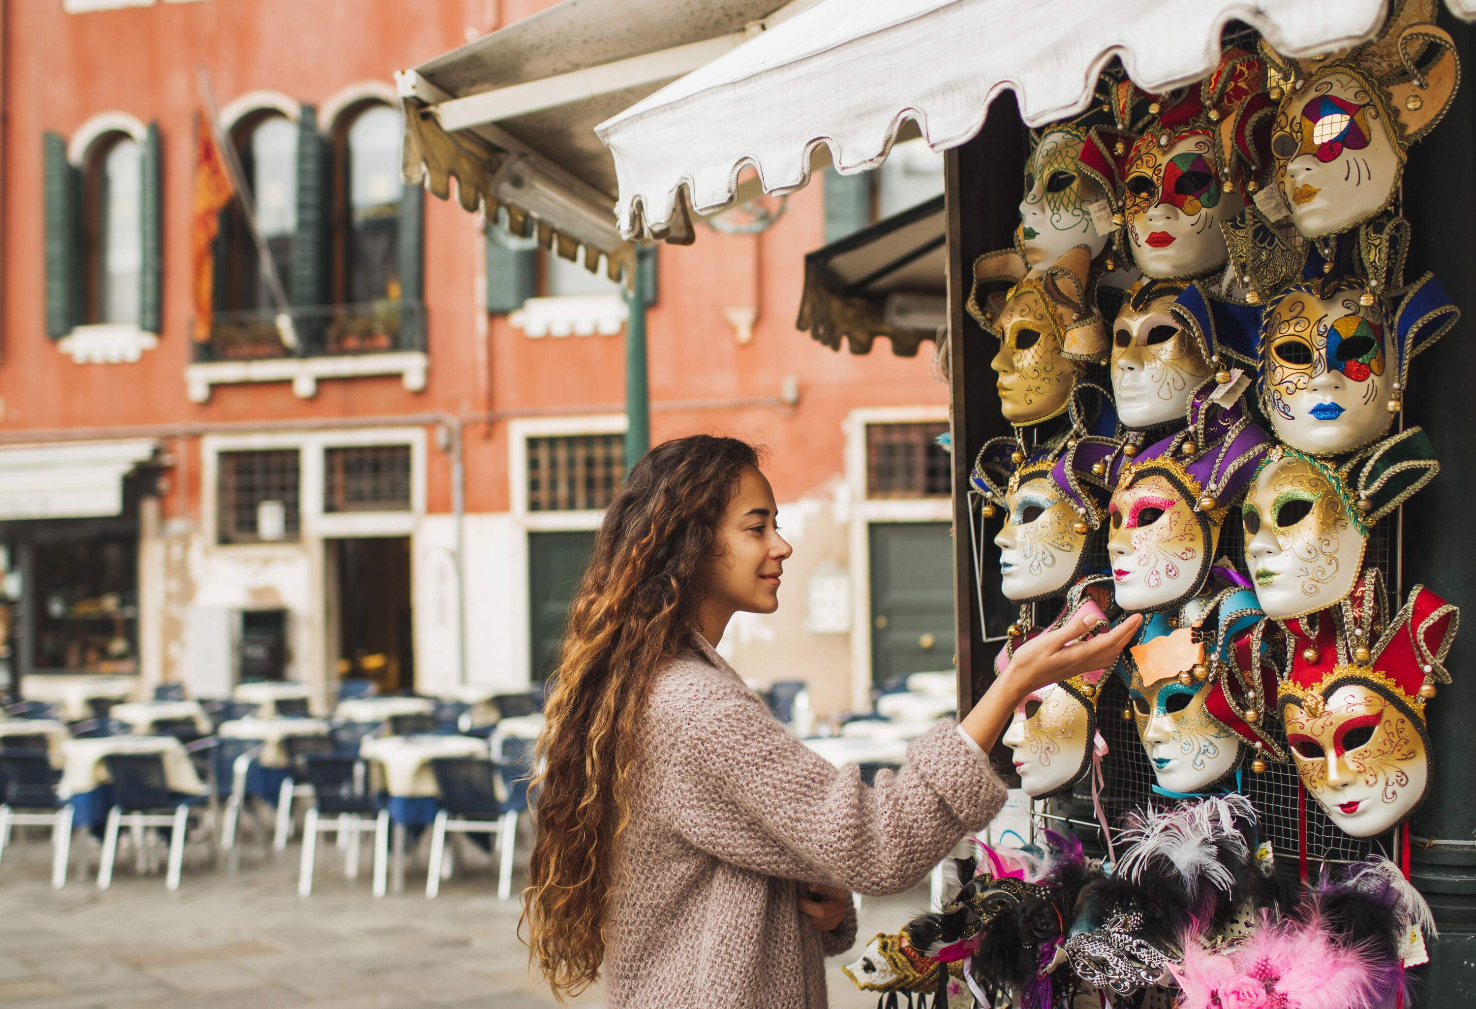
<path fill-rule="evenodd" d="M 1159 610 L 1199 591 L 1215 555 L 1219 523 L 1201 523 L 1175 482 L 1153 473 L 1119 485 L 1108 516 L 1107 554 L 1117 606 Z"/>

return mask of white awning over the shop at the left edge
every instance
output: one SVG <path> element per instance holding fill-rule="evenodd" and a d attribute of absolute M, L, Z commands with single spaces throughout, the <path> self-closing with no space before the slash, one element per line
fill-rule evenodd
<path fill-rule="evenodd" d="M 123 479 L 154 458 L 152 439 L 0 448 L 0 521 L 123 514 Z"/>

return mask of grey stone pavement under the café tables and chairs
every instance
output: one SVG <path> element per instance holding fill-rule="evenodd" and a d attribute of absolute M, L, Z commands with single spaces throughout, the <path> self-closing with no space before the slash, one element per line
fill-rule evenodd
<path fill-rule="evenodd" d="M 465 872 L 437 900 L 424 894 L 425 866 L 410 861 L 406 892 L 373 900 L 369 848 L 348 880 L 339 852 L 319 846 L 310 898 L 297 895 L 298 848 L 270 857 L 246 842 L 241 869 L 210 864 L 193 848 L 180 889 L 162 872 L 137 876 L 127 851 L 112 888 L 96 888 L 96 846 L 86 876 L 49 885 L 41 833 L 18 836 L 0 860 L 0 1006 L 4 1009 L 549 1009 L 530 982 L 517 938 L 518 903 L 496 898 L 489 858 L 465 855 Z M 525 838 L 520 838 L 520 855 Z M 162 861 L 162 860 L 161 860 Z M 524 883 L 520 872 L 514 892 Z M 927 904 L 927 889 L 862 904 L 861 941 L 892 931 Z M 872 1009 L 832 957 L 831 1005 Z M 567 1003 L 604 1005 L 596 988 Z"/>

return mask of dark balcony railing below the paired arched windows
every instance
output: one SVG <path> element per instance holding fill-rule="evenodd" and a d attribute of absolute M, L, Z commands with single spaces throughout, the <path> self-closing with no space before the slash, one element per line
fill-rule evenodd
<path fill-rule="evenodd" d="M 297 346 L 282 340 L 272 309 L 215 312 L 196 362 L 341 358 L 425 350 L 424 301 L 314 304 L 289 309 Z"/>

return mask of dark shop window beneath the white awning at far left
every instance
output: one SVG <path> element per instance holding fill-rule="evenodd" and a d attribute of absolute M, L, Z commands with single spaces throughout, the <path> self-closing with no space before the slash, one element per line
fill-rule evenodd
<path fill-rule="evenodd" d="M 139 541 L 130 535 L 37 542 L 35 659 L 47 672 L 139 671 Z"/>

